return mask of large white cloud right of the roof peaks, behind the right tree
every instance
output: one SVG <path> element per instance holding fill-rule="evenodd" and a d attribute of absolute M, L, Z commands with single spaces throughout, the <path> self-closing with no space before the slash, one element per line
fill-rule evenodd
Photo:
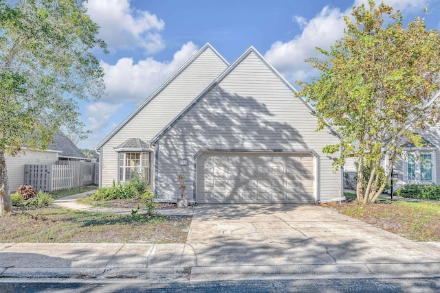
<path fill-rule="evenodd" d="M 422 10 L 433 0 L 386 0 L 384 3 L 391 5 L 394 10 Z M 316 47 L 329 49 L 336 40 L 342 38 L 344 32 L 344 16 L 351 14 L 353 6 L 359 6 L 367 0 L 355 0 L 353 5 L 345 11 L 339 8 L 325 6 L 313 19 L 307 21 L 303 16 L 294 16 L 292 21 L 298 23 L 303 30 L 302 34 L 295 36 L 286 43 L 277 41 L 272 44 L 265 58 L 280 71 L 287 80 L 306 80 L 318 73 L 304 60 L 318 56 Z M 368 6 L 367 6 L 368 7 Z"/>

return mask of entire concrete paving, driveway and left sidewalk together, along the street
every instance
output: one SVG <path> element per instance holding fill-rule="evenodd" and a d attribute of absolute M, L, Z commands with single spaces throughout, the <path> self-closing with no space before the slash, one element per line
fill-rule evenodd
<path fill-rule="evenodd" d="M 311 205 L 204 204 L 186 244 L 0 244 L 0 282 L 390 277 L 440 277 L 440 247 Z"/>

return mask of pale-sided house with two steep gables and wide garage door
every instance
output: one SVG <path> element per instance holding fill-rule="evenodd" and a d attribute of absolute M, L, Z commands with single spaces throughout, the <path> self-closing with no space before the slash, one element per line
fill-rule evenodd
<path fill-rule="evenodd" d="M 342 172 L 322 152 L 314 110 L 250 47 L 231 65 L 210 45 L 97 147 L 100 186 L 141 172 L 160 201 L 313 203 L 340 200 Z"/>

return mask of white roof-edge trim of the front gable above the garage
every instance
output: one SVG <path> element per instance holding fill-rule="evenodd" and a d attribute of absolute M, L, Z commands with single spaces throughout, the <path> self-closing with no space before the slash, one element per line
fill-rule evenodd
<path fill-rule="evenodd" d="M 181 111 L 181 113 L 179 115 L 177 115 L 177 117 L 175 117 L 175 119 L 173 119 L 173 121 L 170 122 L 170 124 L 168 124 L 161 132 L 159 132 L 152 140 L 151 143 L 156 143 L 166 132 L 168 132 L 168 130 L 170 130 L 170 128 L 173 127 L 174 124 L 177 123 L 177 121 L 179 121 L 179 119 L 181 119 L 181 117 L 183 117 L 186 113 L 188 113 L 188 111 L 195 106 L 195 104 L 197 104 L 197 102 L 199 102 L 200 99 L 203 98 L 204 95 L 206 95 L 206 93 L 208 93 L 214 86 L 216 86 L 219 82 L 221 82 L 221 80 L 223 80 L 223 78 L 225 78 L 232 70 L 234 70 L 235 67 L 237 67 L 237 65 L 239 65 L 249 54 L 254 53 L 267 67 L 269 67 L 270 70 L 272 70 L 274 72 L 274 74 L 276 76 L 278 76 L 278 78 L 280 78 L 280 80 L 294 93 L 296 93 L 296 89 L 294 88 L 294 86 L 292 86 L 292 84 L 290 84 L 289 82 L 287 82 L 287 80 L 283 77 L 283 75 L 281 75 L 281 73 L 279 73 L 264 57 L 263 55 L 261 55 L 261 53 L 255 49 L 253 46 L 250 46 L 243 54 L 241 54 L 241 56 L 239 58 L 237 58 L 227 69 L 225 69 L 225 71 L 223 71 L 223 73 L 221 73 L 221 75 L 219 75 L 218 78 L 216 78 L 216 80 L 214 80 L 206 89 L 204 89 L 200 95 L 197 96 L 196 99 L 194 99 L 194 101 L 192 101 L 191 104 L 189 104 L 184 110 Z M 311 113 L 315 113 L 315 109 L 305 101 L 305 99 L 303 99 L 303 97 L 298 97 L 298 99 L 300 99 L 301 102 L 303 102 L 305 104 L 305 106 L 307 106 L 307 108 L 309 108 L 309 110 L 311 111 Z M 338 134 L 338 132 L 336 132 L 336 130 L 333 130 L 333 128 L 327 124 L 327 126 L 329 127 L 329 129 L 336 134 L 338 137 L 340 137 L 340 135 Z"/>

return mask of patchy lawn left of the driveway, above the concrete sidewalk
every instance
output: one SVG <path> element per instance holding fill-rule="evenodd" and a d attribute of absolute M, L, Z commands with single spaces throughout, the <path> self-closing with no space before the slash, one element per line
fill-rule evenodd
<path fill-rule="evenodd" d="M 0 242 L 184 243 L 190 216 L 23 209 L 0 220 Z"/>

